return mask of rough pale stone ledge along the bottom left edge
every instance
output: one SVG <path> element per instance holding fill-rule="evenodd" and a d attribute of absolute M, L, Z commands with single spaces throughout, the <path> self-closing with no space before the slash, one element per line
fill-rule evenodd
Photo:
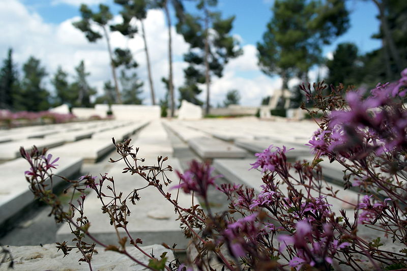
<path fill-rule="evenodd" d="M 114 243 L 116 245 L 117 243 Z M 14 258 L 15 271 L 27 271 L 27 270 L 65 270 L 65 271 L 88 271 L 89 265 L 85 262 L 78 262 L 82 258 L 81 253 L 76 253 L 73 250 L 68 256 L 64 257 L 62 251 L 57 251 L 55 244 L 47 244 L 40 246 L 21 246 L 14 247 L 8 246 L 7 249 L 11 252 Z M 98 253 L 92 256 L 93 270 L 99 271 L 147 271 L 145 268 L 134 261 L 132 261 L 126 255 L 105 251 L 103 247 L 95 248 Z M 160 258 L 160 255 L 167 252 L 167 263 L 173 261 L 174 255 L 171 250 L 164 248 L 161 245 L 142 246 L 141 249 L 147 253 L 154 252 L 156 258 Z M 149 258 L 142 254 L 139 250 L 133 246 L 126 248 L 127 252 L 135 259 L 141 261 L 143 264 L 149 264 Z M 0 266 L 0 271 L 8 271 L 7 269 L 10 262 L 10 258 L 7 258 Z"/>

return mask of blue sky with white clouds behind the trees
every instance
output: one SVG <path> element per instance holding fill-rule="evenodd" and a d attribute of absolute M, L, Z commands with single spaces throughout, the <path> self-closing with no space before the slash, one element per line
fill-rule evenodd
<path fill-rule="evenodd" d="M 13 48 L 13 57 L 19 69 L 28 57 L 33 55 L 41 59 L 49 76 L 45 84 L 52 91 L 50 77 L 61 66 L 73 80 L 74 67 L 83 59 L 86 70 L 91 75 L 89 82 L 103 93 L 103 83 L 111 80 L 109 58 L 104 40 L 89 43 L 84 35 L 73 27 L 72 22 L 80 17 L 81 3 L 90 5 L 96 10 L 99 3 L 109 5 L 115 15 L 114 20 L 120 21 L 120 7 L 113 0 L 0 0 L 0 59 L 7 55 L 8 48 Z M 257 66 L 256 43 L 266 31 L 270 21 L 273 0 L 219 0 L 218 10 L 222 16 L 235 15 L 234 28 L 231 34 L 240 40 L 243 54 L 231 59 L 226 65 L 222 78 L 212 78 L 211 104 L 222 104 L 227 91 L 238 89 L 241 104 L 258 106 L 262 98 L 271 95 L 274 89 L 281 87 L 278 76 L 269 77 L 260 72 Z M 377 10 L 371 1 L 347 0 L 346 5 L 351 12 L 351 27 L 332 45 L 323 48 L 324 56 L 332 57 L 336 45 L 341 42 L 353 42 L 361 53 L 380 47 L 380 41 L 370 37 L 379 29 L 376 19 Z M 192 3 L 186 8 L 193 10 Z M 174 21 L 174 20 L 173 20 Z M 167 28 L 164 14 L 161 10 L 150 10 L 144 22 L 147 41 L 151 54 L 153 82 L 156 97 L 165 95 L 161 77 L 168 76 L 167 62 Z M 182 55 L 188 51 L 188 44 L 183 37 L 171 29 L 173 36 L 173 63 L 175 89 L 184 83 L 183 69 L 187 64 Z M 143 103 L 151 104 L 150 88 L 147 80 L 146 58 L 143 54 L 143 43 L 139 36 L 128 40 L 119 33 L 111 34 L 112 47 L 129 48 L 139 67 L 136 72 L 144 81 Z M 309 73 L 310 80 L 315 80 L 317 74 L 324 76 L 325 67 L 314 67 Z M 289 85 L 298 83 L 293 79 Z M 204 89 L 202 87 L 202 89 Z M 205 92 L 200 94 L 205 100 Z M 178 92 L 176 92 L 176 99 Z M 157 99 L 157 98 L 156 98 Z"/>

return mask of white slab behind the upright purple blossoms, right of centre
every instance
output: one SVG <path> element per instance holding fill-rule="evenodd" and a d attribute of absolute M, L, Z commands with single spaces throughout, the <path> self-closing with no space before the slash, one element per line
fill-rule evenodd
<path fill-rule="evenodd" d="M 292 142 L 281 142 L 276 140 L 250 140 L 250 139 L 238 139 L 235 140 L 235 145 L 240 146 L 249 150 L 252 153 L 261 153 L 265 149 L 267 149 L 271 144 L 276 147 L 282 148 L 285 146 L 287 149 L 294 148 L 292 150 L 288 150 L 285 155 L 287 158 L 296 158 L 299 156 L 306 156 L 310 154 L 310 150 L 307 146 L 301 146 L 300 144 L 292 143 Z"/>

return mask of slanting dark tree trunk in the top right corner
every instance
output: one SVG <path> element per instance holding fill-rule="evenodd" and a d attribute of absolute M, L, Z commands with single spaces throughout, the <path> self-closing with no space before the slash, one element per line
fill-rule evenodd
<path fill-rule="evenodd" d="M 402 64 L 401 64 L 401 59 L 400 56 L 398 54 L 396 45 L 394 43 L 393 37 L 391 35 L 391 31 L 389 28 L 389 24 L 387 23 L 387 18 L 386 18 L 386 14 L 385 14 L 385 0 L 382 0 L 382 2 L 379 2 L 378 0 L 372 0 L 373 3 L 376 5 L 377 9 L 379 9 L 379 17 L 380 17 L 380 24 L 382 27 L 382 31 L 383 31 L 383 38 L 385 39 L 385 44 L 388 46 L 389 48 L 389 52 L 391 57 L 393 58 L 394 64 L 396 65 L 397 68 L 397 72 L 401 72 Z"/>

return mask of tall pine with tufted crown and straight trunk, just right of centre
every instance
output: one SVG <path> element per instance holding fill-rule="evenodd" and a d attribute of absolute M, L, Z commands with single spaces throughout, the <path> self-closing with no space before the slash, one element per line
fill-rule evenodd
<path fill-rule="evenodd" d="M 238 41 L 230 35 L 235 16 L 222 19 L 220 12 L 212 11 L 217 4 L 217 0 L 198 0 L 196 8 L 201 14 L 185 14 L 177 24 L 177 31 L 184 36 L 191 48 L 184 57 L 190 65 L 187 69 L 193 68 L 205 78 L 207 114 L 210 108 L 211 76 L 222 77 L 223 68 L 229 59 L 242 53 Z M 180 88 L 180 92 L 197 93 L 198 81 L 188 78 L 187 70 L 184 73 L 186 84 Z"/>

